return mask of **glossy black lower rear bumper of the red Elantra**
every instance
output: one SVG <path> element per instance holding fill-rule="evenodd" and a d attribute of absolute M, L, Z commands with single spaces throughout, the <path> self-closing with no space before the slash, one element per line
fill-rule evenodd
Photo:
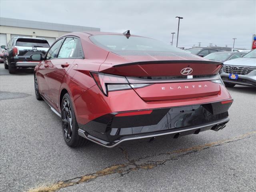
<path fill-rule="evenodd" d="M 150 114 L 116 116 L 111 113 L 87 124 L 79 124 L 78 134 L 111 148 L 127 140 L 170 134 L 173 138 L 216 129 L 226 124 L 231 102 L 153 109 Z M 120 113 L 119 113 L 120 114 Z"/>

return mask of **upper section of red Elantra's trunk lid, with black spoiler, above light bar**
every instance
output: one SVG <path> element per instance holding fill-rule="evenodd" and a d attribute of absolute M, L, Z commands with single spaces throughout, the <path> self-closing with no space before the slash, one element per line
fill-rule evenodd
<path fill-rule="evenodd" d="M 148 53 L 148 52 L 146 52 Z M 162 52 L 160 52 L 162 53 Z M 183 76 L 181 70 L 192 68 L 188 75 L 218 74 L 222 63 L 209 61 L 189 53 L 169 53 L 157 56 L 119 56 L 112 52 L 108 54 L 106 61 L 100 65 L 102 73 L 121 76 Z M 131 53 L 130 53 L 131 54 Z"/>

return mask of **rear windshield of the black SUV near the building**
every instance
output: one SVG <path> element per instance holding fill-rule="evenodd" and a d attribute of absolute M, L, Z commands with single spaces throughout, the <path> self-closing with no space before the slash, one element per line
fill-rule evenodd
<path fill-rule="evenodd" d="M 49 44 L 46 40 L 41 39 L 26 39 L 20 38 L 16 41 L 16 46 L 24 46 L 24 47 L 46 47 L 49 48 Z"/>

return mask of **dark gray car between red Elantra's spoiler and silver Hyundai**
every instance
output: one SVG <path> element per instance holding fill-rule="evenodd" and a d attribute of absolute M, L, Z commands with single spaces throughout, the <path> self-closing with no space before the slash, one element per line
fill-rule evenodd
<path fill-rule="evenodd" d="M 232 52 L 232 51 L 223 51 L 223 52 L 214 52 L 211 54 L 208 54 L 204 56 L 205 59 L 209 60 L 214 60 L 214 61 L 220 61 L 220 62 L 225 62 L 227 60 L 232 60 L 236 58 L 240 58 L 244 55 L 245 53 L 240 53 L 240 52 Z"/>

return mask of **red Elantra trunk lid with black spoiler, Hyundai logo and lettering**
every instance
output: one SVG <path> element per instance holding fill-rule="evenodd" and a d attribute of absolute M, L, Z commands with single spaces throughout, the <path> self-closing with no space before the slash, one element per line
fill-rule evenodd
<path fill-rule="evenodd" d="M 189 53 L 169 56 L 117 56 L 109 54 L 99 71 L 125 76 L 130 84 L 150 84 L 133 88 L 144 101 L 175 100 L 220 93 L 216 78 L 221 62 Z"/>

